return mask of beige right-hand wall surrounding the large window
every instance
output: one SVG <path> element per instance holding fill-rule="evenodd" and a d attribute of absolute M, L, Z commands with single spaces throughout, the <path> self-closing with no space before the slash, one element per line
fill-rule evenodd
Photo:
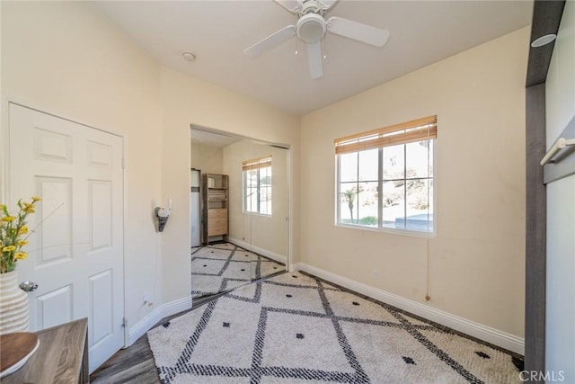
<path fill-rule="evenodd" d="M 334 226 L 333 139 L 437 114 L 427 305 L 522 336 L 528 36 L 513 32 L 305 115 L 301 261 L 426 303 L 425 237 Z"/>

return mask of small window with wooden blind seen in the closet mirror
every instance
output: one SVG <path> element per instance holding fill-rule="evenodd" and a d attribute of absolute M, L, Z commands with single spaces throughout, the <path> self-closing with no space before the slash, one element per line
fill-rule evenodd
<path fill-rule="evenodd" d="M 242 162 L 243 211 L 271 215 L 271 156 Z"/>

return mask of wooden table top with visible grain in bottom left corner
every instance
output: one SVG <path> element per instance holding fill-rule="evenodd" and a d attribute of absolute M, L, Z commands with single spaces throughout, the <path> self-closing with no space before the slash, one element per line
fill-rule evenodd
<path fill-rule="evenodd" d="M 2 378 L 2 384 L 90 382 L 86 318 L 43 329 L 36 335 L 40 339 L 38 351 L 20 370 Z"/>

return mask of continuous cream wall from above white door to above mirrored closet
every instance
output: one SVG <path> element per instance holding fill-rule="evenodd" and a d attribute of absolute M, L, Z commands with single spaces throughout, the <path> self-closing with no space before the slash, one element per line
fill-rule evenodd
<path fill-rule="evenodd" d="M 161 67 L 87 2 L 1 4 L 3 97 L 126 138 L 128 326 L 190 298 L 190 124 L 297 153 L 299 119 Z M 153 212 L 168 198 L 173 214 L 159 234 Z"/>

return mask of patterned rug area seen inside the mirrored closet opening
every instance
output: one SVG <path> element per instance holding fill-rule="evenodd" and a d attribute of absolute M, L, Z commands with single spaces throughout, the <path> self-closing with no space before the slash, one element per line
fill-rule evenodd
<path fill-rule="evenodd" d="M 202 246 L 191 254 L 191 297 L 233 290 L 285 270 L 285 264 L 231 243 Z"/>

